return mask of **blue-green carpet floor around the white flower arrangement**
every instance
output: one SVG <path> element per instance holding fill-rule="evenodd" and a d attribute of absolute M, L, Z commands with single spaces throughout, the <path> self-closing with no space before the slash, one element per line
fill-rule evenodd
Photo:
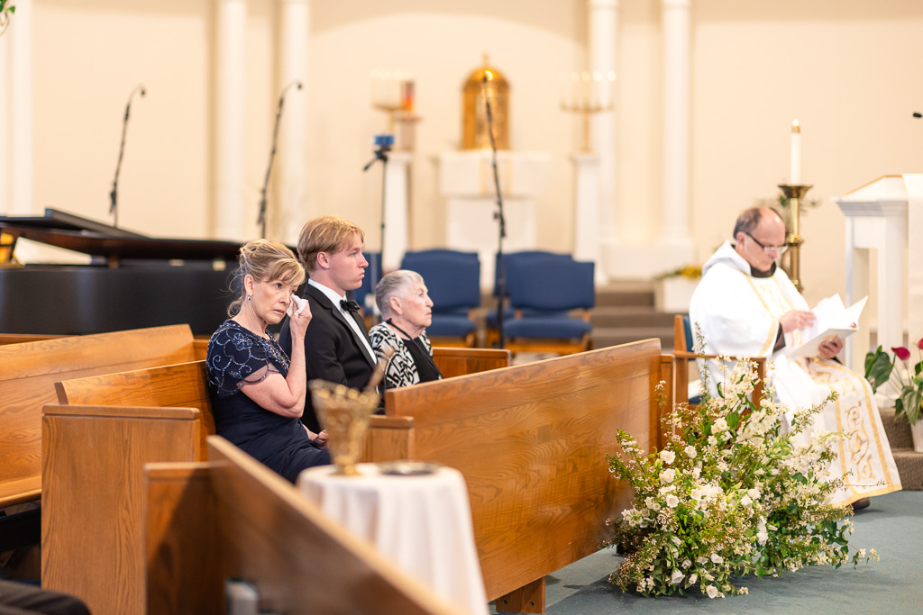
<path fill-rule="evenodd" d="M 745 577 L 749 595 L 710 599 L 642 597 L 606 583 L 621 558 L 601 550 L 545 579 L 548 615 L 579 613 L 923 613 L 923 491 L 872 498 L 853 520 L 855 548 L 878 550 L 881 562 L 812 566 L 776 578 Z M 492 612 L 496 612 L 493 611 Z"/>

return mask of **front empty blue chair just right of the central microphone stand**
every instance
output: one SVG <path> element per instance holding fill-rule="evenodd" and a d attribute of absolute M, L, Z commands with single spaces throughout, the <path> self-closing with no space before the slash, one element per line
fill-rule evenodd
<path fill-rule="evenodd" d="M 504 322 L 507 349 L 557 354 L 590 349 L 593 263 L 535 255 L 510 259 L 506 268 L 509 305 L 516 314 Z M 572 315 L 575 311 L 579 315 Z"/>

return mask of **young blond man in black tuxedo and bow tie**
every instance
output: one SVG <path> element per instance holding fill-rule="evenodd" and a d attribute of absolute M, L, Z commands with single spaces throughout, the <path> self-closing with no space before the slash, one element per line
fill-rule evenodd
<path fill-rule="evenodd" d="M 362 229 L 337 216 L 309 220 L 298 237 L 298 258 L 308 275 L 302 297 L 311 303 L 312 313 L 305 334 L 309 382 L 319 378 L 361 389 L 372 377 L 376 359 L 366 323 L 358 304 L 346 300 L 346 291 L 362 286 L 366 275 L 365 240 Z M 291 356 L 288 319 L 279 342 Z M 301 420 L 312 432 L 320 431 L 310 393 Z"/>

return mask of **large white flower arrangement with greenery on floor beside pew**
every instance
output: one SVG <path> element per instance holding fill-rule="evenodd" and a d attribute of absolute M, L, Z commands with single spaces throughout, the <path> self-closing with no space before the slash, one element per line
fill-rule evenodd
<path fill-rule="evenodd" d="M 875 550 L 850 553 L 851 507 L 824 503 L 843 484 L 827 471 L 843 435 L 804 432 L 827 400 L 796 412 L 786 431 L 786 409 L 768 387 L 751 401 L 756 381 L 755 365 L 741 362 L 719 396 L 674 408 L 662 451 L 645 454 L 619 432 L 621 454 L 609 457 L 609 469 L 635 499 L 612 523 L 626 555 L 610 583 L 644 596 L 697 588 L 714 598 L 748 593 L 734 576 L 879 559 Z"/>

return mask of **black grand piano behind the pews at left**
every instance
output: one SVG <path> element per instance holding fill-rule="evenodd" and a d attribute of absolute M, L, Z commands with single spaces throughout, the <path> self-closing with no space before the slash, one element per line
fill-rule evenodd
<path fill-rule="evenodd" d="M 0 217 L 0 333 L 86 335 L 186 323 L 210 336 L 227 318 L 240 243 L 154 239 L 56 209 Z M 90 255 L 26 265 L 20 239 Z"/>

